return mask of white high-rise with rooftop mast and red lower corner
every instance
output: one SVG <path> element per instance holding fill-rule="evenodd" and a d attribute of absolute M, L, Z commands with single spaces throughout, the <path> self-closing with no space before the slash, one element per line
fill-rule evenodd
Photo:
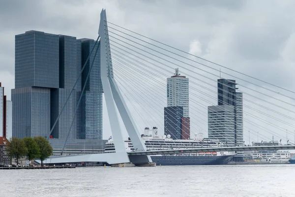
<path fill-rule="evenodd" d="M 177 134 L 179 136 L 177 139 L 188 139 L 190 138 L 190 118 L 189 118 L 189 80 L 185 76 L 181 76 L 178 73 L 178 68 L 176 69 L 175 75 L 167 78 L 167 106 L 168 107 L 182 107 L 183 116 L 181 118 L 181 130 Z M 165 109 L 164 109 L 165 110 Z M 172 118 L 172 116 L 171 116 Z M 178 130 L 177 125 L 169 125 L 167 121 L 174 122 L 174 120 L 169 120 L 167 117 L 164 118 L 165 134 L 174 133 Z M 175 128 L 173 128 L 175 127 Z M 173 137 L 173 135 L 172 135 Z"/>

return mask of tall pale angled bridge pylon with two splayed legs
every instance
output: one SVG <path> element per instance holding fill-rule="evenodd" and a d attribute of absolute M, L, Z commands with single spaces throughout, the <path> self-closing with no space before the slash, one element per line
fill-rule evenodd
<path fill-rule="evenodd" d="M 122 131 L 119 125 L 116 106 L 128 135 L 132 141 L 134 149 L 146 151 L 146 145 L 142 142 L 140 132 L 127 108 L 127 105 L 119 91 L 112 65 L 111 47 L 108 33 L 108 23 L 106 10 L 102 9 L 100 13 L 100 23 L 98 34 L 100 36 L 100 76 L 106 100 L 112 136 L 115 144 L 116 153 L 121 153 L 118 163 L 145 164 L 151 162 L 149 156 L 128 157 L 122 137 Z M 115 105 L 116 104 L 116 105 Z"/>

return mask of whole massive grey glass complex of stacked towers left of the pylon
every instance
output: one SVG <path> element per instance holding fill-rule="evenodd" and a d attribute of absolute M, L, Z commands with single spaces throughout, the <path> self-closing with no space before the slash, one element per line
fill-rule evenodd
<path fill-rule="evenodd" d="M 48 136 L 94 42 L 93 39 L 77 39 L 73 36 L 37 31 L 15 36 L 12 136 Z M 54 151 L 62 148 L 67 136 L 67 144 L 71 149 L 76 149 L 76 153 L 81 149 L 78 144 L 80 142 L 83 143 L 83 148 L 85 144 L 91 144 L 92 151 L 97 149 L 95 147 L 102 147 L 103 143 L 100 142 L 97 146 L 97 140 L 102 139 L 100 57 L 98 51 L 94 59 L 95 49 L 93 51 L 82 77 L 73 89 L 50 135 Z M 93 59 L 94 64 L 86 91 L 71 131 L 68 132 Z"/>

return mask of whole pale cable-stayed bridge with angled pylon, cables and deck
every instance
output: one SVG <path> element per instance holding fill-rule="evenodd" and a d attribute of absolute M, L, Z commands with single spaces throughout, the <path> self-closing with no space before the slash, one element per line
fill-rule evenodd
<path fill-rule="evenodd" d="M 177 39 L 181 40 L 181 35 Z M 61 155 L 48 158 L 44 161 L 44 164 L 104 162 L 108 164 L 132 163 L 144 165 L 152 162 L 150 155 L 159 154 L 295 149 L 295 131 L 293 133 L 292 130 L 295 129 L 295 92 L 110 23 L 107 21 L 105 9 L 101 11 L 98 37 L 89 56 L 93 53 L 95 45 L 97 46 L 94 52 L 95 56 L 100 56 L 101 83 L 116 152 L 72 156 Z M 86 80 L 89 78 L 92 65 L 93 62 L 90 64 Z M 221 74 L 224 75 L 223 77 L 239 81 L 238 85 L 242 90 L 240 92 L 246 96 L 243 99 L 244 103 L 237 103 L 243 104 L 244 107 L 244 133 L 232 131 L 235 132 L 234 137 L 226 132 L 219 133 L 227 141 L 233 142 L 233 146 L 187 149 L 184 145 L 184 148 L 179 149 L 159 150 L 159 148 L 155 147 L 152 150 L 147 150 L 145 143 L 141 140 L 141 132 L 138 129 L 139 124 L 137 121 L 140 120 L 146 125 L 150 125 L 148 121 L 161 125 L 158 117 L 164 117 L 162 110 L 163 106 L 165 106 L 163 101 L 167 99 L 166 78 L 169 76 L 168 73 L 175 67 L 181 68 L 183 70 L 181 73 L 191 79 L 189 85 L 191 122 L 196 123 L 191 126 L 191 131 L 207 130 L 208 118 L 207 113 L 204 111 L 207 110 L 208 105 L 212 105 L 217 100 L 217 95 L 215 95 L 217 92 L 214 90 L 216 86 L 212 85 L 212 83 L 216 83 L 216 79 Z M 84 68 L 85 66 L 83 66 L 78 79 L 81 77 Z M 77 85 L 78 79 L 74 87 Z M 82 92 L 84 90 L 85 86 Z M 231 100 L 233 99 L 233 93 L 227 92 L 224 97 Z M 81 98 L 82 96 L 78 101 L 78 105 Z M 65 101 L 64 106 L 68 99 Z M 138 103 L 142 103 L 141 106 L 138 106 Z M 64 106 L 59 112 L 59 116 Z M 75 116 L 77 110 L 78 106 Z M 237 123 L 233 119 L 227 120 L 227 117 L 223 118 L 229 125 L 236 126 Z M 59 117 L 49 135 L 58 120 Z M 120 120 L 123 122 L 124 129 L 127 131 L 135 151 L 126 151 Z M 210 121 L 211 124 L 221 126 L 220 121 Z M 67 133 L 67 138 L 73 122 Z M 222 127 L 227 126 L 223 125 Z M 165 127 L 163 131 L 164 129 Z M 230 130 L 230 128 L 224 129 Z M 237 137 L 248 140 L 248 144 L 246 145 L 245 141 L 238 144 L 236 142 Z M 294 140 L 292 140 L 293 137 Z M 274 138 L 278 139 L 280 143 L 274 143 Z M 266 146 L 263 143 L 258 145 L 259 141 L 267 141 L 270 145 Z M 64 143 L 62 152 L 66 142 L 67 140 Z"/>

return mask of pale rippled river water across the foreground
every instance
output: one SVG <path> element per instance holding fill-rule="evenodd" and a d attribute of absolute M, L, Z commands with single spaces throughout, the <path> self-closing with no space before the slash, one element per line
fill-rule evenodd
<path fill-rule="evenodd" d="M 0 197 L 295 197 L 295 165 L 0 170 Z"/>

